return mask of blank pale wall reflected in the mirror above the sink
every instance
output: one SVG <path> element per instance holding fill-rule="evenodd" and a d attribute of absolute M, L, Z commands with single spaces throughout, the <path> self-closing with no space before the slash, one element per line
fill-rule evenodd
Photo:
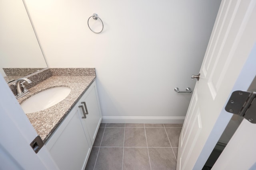
<path fill-rule="evenodd" d="M 0 1 L 0 73 L 2 68 L 46 68 L 22 0 Z"/>

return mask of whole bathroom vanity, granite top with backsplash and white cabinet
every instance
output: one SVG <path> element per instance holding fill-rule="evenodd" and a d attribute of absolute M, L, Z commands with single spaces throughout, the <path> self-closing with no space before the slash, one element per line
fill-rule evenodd
<path fill-rule="evenodd" d="M 82 170 L 102 120 L 95 69 L 50 68 L 46 73 L 50 75 L 29 88 L 30 93 L 18 102 L 22 104 L 50 88 L 64 86 L 71 89 L 61 102 L 26 115 L 61 170 Z M 36 80 L 38 77 L 45 76 L 36 75 Z M 33 77 L 29 79 L 33 82 Z"/>

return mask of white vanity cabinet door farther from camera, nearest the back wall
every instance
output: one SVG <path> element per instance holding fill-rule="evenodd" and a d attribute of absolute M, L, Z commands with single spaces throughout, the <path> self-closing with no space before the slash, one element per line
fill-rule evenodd
<path fill-rule="evenodd" d="M 101 120 L 102 120 L 102 115 L 101 115 L 101 110 L 100 110 L 100 105 L 98 100 L 98 92 L 97 92 L 95 82 L 93 82 L 90 88 L 88 88 L 84 96 L 85 97 L 82 99 L 82 102 L 86 103 L 88 114 L 86 114 L 86 118 L 82 119 L 82 121 L 84 122 L 83 125 L 85 127 L 85 130 L 87 130 L 90 135 L 90 139 L 93 145 L 98 129 L 100 127 Z M 80 110 L 80 113 L 82 117 L 83 116 L 82 110 Z"/>

